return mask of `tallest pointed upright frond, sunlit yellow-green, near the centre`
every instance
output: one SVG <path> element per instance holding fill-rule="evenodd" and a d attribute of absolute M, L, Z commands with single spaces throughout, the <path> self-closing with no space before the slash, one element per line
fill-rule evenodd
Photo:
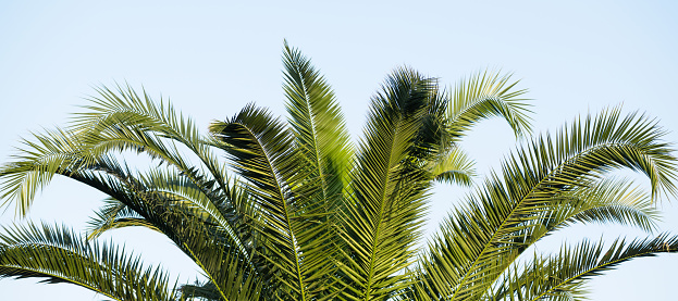
<path fill-rule="evenodd" d="M 353 147 L 334 92 L 311 61 L 285 42 L 283 64 L 288 124 L 304 164 L 309 166 L 305 178 L 296 184 L 305 187 L 305 191 L 297 193 L 304 195 L 305 199 L 315 199 L 305 202 L 304 214 L 316 215 L 306 218 L 320 225 L 315 227 L 309 239 L 298 239 L 299 248 L 304 252 L 306 268 L 324 269 L 331 266 L 328 262 L 333 261 L 338 247 L 324 241 L 336 236 L 334 227 L 329 225 L 343 203 Z M 328 286 L 329 283 L 317 286 L 317 298 L 334 296 L 334 290 Z"/>

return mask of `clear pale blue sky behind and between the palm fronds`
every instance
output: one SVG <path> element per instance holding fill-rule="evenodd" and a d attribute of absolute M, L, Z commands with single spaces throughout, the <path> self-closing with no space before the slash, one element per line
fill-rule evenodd
<path fill-rule="evenodd" d="M 93 86 L 115 81 L 169 97 L 201 129 L 251 101 L 283 115 L 285 38 L 326 75 L 356 137 L 370 96 L 391 70 L 407 64 L 448 85 L 483 68 L 514 72 L 530 89 L 535 133 L 624 103 L 627 112 L 655 116 L 670 130 L 667 139 L 678 142 L 675 1 L 190 2 L 197 4 L 0 1 L 0 161 L 30 130 L 64 125 L 76 105 L 87 103 Z M 486 173 L 515 143 L 504 123 L 489 121 L 464 147 Z M 436 189 L 429 231 L 463 193 Z M 37 198 L 29 218 L 83 229 L 101 199 L 58 179 Z M 661 227 L 678 234 L 678 200 L 671 202 L 663 203 Z M 12 221 L 13 209 L 0 216 L 1 224 Z M 619 235 L 645 236 L 580 226 L 539 250 L 584 236 Z M 197 275 L 181 252 L 150 231 L 115 230 L 106 239 L 124 242 L 148 263 L 162 262 L 182 279 Z M 625 263 L 591 281 L 590 297 L 675 300 L 676 271 L 678 255 Z M 0 299 L 101 297 L 75 286 L 2 279 Z"/>

